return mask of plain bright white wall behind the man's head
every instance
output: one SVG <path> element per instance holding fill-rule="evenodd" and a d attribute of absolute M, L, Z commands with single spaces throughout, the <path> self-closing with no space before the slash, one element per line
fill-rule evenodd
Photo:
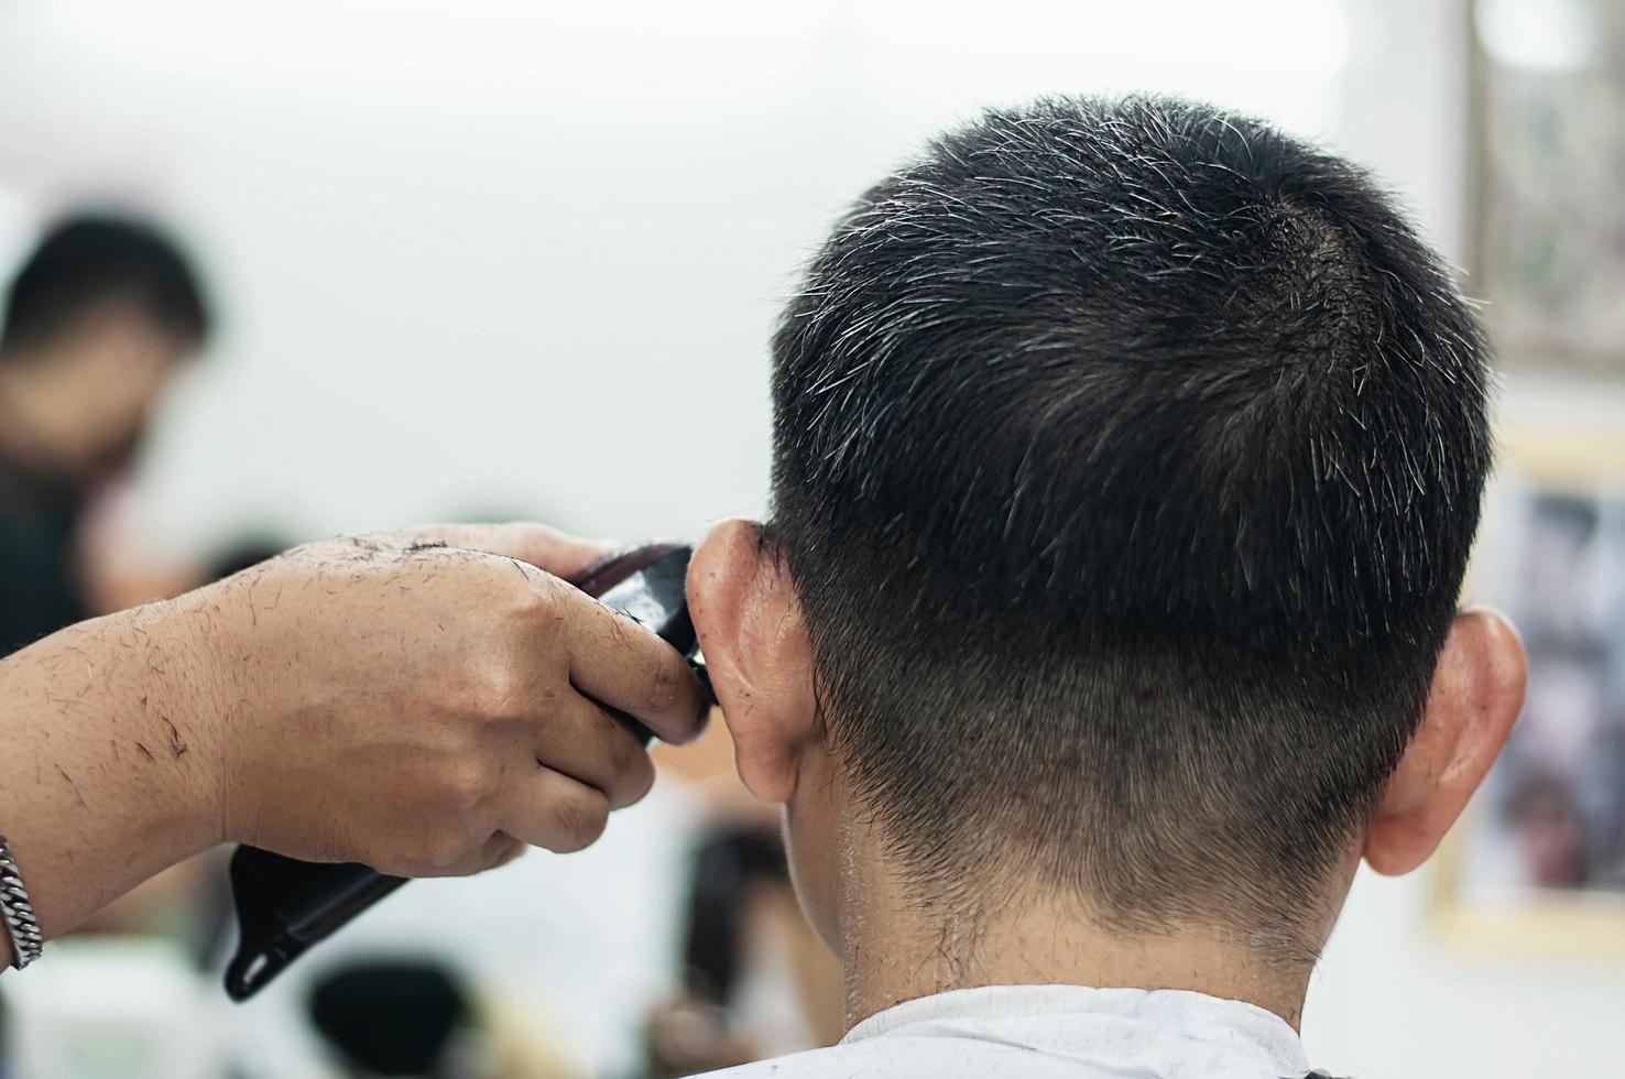
<path fill-rule="evenodd" d="M 1462 255 L 1454 0 L 328 6 L 0 3 L 0 252 L 112 177 L 188 228 L 228 302 L 143 481 L 171 548 L 760 509 L 793 270 L 980 102 L 1138 86 L 1264 112 Z M 1422 907 L 1420 878 L 1358 881 L 1306 1012 L 1323 1066 L 1620 1074 L 1625 968 L 1451 954 Z"/>

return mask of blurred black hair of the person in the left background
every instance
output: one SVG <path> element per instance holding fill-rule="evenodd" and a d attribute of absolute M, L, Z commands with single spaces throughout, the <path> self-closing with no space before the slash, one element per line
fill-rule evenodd
<path fill-rule="evenodd" d="M 179 242 L 145 221 L 84 213 L 54 224 L 11 280 L 0 354 L 49 344 L 109 301 L 187 344 L 208 338 L 208 299 Z"/>

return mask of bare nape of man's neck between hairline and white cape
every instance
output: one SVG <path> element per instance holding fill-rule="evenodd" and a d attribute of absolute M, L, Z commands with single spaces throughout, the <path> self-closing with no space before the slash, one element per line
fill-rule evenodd
<path fill-rule="evenodd" d="M 985 985 L 1190 990 L 1256 1004 L 1298 1027 L 1313 964 L 1271 959 L 1277 952 L 1240 934 L 1124 934 L 1037 884 L 998 889 L 985 902 L 921 902 L 884 860 L 847 864 L 848 1027 L 902 1001 Z"/>

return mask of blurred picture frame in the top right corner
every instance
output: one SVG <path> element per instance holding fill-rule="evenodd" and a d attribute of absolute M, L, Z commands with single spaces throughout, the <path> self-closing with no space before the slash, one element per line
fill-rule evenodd
<path fill-rule="evenodd" d="M 1467 291 L 1505 367 L 1625 379 L 1625 5 L 1469 10 Z"/>

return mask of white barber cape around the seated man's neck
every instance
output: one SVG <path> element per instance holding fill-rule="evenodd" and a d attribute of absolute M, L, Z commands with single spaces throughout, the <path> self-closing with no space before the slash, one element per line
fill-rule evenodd
<path fill-rule="evenodd" d="M 1298 1035 L 1253 1004 L 1180 990 L 1011 985 L 889 1008 L 824 1050 L 705 1079 L 1300 1079 Z"/>

